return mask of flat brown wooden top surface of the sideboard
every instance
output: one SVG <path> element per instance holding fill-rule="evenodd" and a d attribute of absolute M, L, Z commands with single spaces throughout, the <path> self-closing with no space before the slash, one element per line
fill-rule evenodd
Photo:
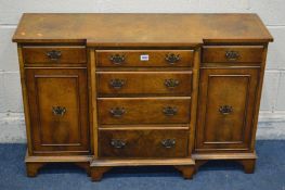
<path fill-rule="evenodd" d="M 106 47 L 272 40 L 256 14 L 27 13 L 13 36 L 15 42 Z"/>

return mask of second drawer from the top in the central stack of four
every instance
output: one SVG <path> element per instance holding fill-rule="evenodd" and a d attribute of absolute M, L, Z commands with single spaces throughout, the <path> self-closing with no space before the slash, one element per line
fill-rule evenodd
<path fill-rule="evenodd" d="M 98 72 L 99 96 L 191 96 L 192 72 Z"/>

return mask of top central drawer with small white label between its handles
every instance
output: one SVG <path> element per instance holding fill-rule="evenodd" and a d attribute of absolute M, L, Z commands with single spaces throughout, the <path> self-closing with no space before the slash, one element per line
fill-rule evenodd
<path fill-rule="evenodd" d="M 100 50 L 96 51 L 96 65 L 189 67 L 193 64 L 193 50 Z"/>

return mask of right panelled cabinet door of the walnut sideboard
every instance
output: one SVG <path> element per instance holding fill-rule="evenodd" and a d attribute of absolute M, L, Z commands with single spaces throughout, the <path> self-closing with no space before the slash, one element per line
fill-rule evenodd
<path fill-rule="evenodd" d="M 248 150 L 259 68 L 200 69 L 196 150 Z"/>

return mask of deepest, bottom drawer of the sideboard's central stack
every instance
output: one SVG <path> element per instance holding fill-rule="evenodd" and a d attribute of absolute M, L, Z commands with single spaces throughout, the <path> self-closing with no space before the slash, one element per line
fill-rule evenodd
<path fill-rule="evenodd" d="M 186 129 L 99 130 L 99 156 L 184 157 L 187 156 Z"/>

